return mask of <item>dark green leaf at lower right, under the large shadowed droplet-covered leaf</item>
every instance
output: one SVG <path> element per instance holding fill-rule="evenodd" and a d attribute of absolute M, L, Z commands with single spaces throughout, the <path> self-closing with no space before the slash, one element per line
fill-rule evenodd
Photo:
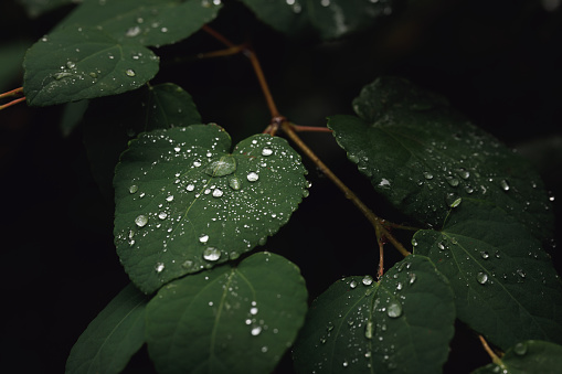
<path fill-rule="evenodd" d="M 526 339 L 562 341 L 562 288 L 549 256 L 510 214 L 467 200 L 441 231 L 414 235 L 450 281 L 458 318 L 501 349 Z"/>

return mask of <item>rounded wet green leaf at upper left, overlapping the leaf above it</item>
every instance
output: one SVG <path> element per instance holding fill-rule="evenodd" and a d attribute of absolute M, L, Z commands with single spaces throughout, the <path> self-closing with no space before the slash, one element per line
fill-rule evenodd
<path fill-rule="evenodd" d="M 151 79 L 158 61 L 136 43 L 118 42 L 95 28 L 70 26 L 28 51 L 23 89 L 33 106 L 116 95 Z"/>

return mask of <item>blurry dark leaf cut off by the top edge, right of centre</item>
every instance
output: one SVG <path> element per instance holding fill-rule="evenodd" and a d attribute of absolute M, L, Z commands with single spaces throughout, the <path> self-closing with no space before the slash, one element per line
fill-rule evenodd
<path fill-rule="evenodd" d="M 311 25 L 322 39 L 335 39 L 373 25 L 392 12 L 394 0 L 242 0 L 272 28 L 296 34 Z"/>

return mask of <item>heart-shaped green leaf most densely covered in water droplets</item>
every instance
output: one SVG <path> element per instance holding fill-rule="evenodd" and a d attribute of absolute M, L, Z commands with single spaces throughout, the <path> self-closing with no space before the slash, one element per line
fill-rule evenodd
<path fill-rule="evenodd" d="M 121 156 L 115 243 L 142 291 L 264 244 L 307 194 L 285 139 L 255 135 L 230 148 L 221 127 L 195 125 L 142 133 Z"/>

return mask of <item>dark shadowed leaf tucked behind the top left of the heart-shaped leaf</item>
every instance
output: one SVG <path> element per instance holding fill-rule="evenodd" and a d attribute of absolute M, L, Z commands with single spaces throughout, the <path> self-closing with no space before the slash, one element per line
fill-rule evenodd
<path fill-rule="evenodd" d="M 113 200 L 115 165 L 138 133 L 195 124 L 201 124 L 201 115 L 191 95 L 171 83 L 92 100 L 84 117 L 84 143 L 102 191 Z"/>

